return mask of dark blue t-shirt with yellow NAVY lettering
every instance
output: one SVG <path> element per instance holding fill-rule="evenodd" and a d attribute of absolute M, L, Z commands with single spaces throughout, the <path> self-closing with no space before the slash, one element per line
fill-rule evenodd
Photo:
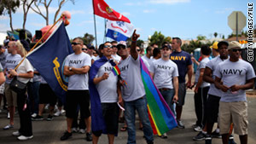
<path fill-rule="evenodd" d="M 188 66 L 192 65 L 191 56 L 185 51 L 173 52 L 170 59 L 176 63 L 178 71 L 178 83 L 185 83 L 185 77 L 188 72 Z"/>

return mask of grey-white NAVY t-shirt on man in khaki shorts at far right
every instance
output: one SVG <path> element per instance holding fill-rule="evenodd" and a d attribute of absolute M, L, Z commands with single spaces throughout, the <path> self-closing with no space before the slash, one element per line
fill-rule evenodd
<path fill-rule="evenodd" d="M 247 80 L 255 78 L 253 66 L 241 59 L 236 62 L 224 60 L 218 64 L 214 75 L 221 78 L 223 84 L 227 87 L 235 84 L 243 85 L 246 84 Z M 236 93 L 231 93 L 231 90 L 229 89 L 227 92 L 223 93 L 220 101 L 247 101 L 245 90 L 240 89 Z"/>

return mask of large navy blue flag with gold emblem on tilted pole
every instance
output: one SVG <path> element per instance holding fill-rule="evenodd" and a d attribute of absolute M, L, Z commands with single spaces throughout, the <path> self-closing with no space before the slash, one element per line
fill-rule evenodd
<path fill-rule="evenodd" d="M 37 69 L 50 88 L 62 100 L 67 92 L 68 79 L 63 75 L 64 60 L 73 53 L 63 22 L 56 26 L 48 39 L 26 58 Z"/>

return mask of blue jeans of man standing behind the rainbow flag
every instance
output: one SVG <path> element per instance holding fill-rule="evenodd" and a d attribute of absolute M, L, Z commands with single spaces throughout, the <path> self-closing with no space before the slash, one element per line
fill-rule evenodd
<path fill-rule="evenodd" d="M 160 91 L 160 93 L 164 97 L 164 99 L 166 100 L 167 105 L 170 107 L 173 115 L 176 118 L 176 112 L 175 112 L 175 108 L 174 108 L 175 104 L 172 102 L 172 99 L 173 99 L 173 96 L 174 96 L 174 89 Z"/>

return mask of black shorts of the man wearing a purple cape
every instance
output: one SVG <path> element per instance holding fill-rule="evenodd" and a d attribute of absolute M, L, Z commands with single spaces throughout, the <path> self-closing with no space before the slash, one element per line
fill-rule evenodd
<path fill-rule="evenodd" d="M 107 127 L 107 134 L 116 135 L 119 130 L 119 107 L 117 103 L 102 103 L 102 115 Z M 92 133 L 99 137 L 102 135 L 102 130 L 92 131 Z"/>

